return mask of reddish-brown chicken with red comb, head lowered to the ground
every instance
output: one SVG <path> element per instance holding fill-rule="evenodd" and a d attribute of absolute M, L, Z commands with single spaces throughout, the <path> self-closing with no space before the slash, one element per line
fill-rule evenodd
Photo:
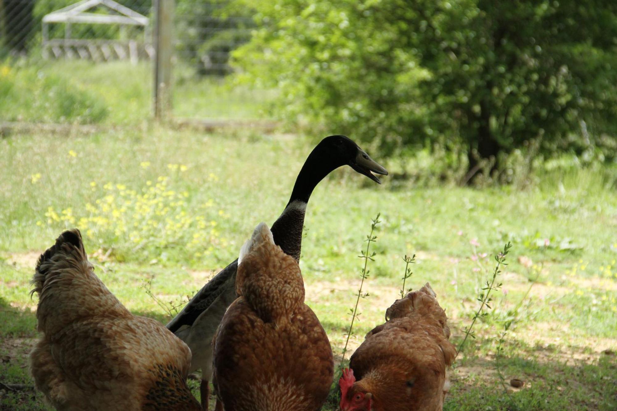
<path fill-rule="evenodd" d="M 341 410 L 442 410 L 445 370 L 456 356 L 446 321 L 428 283 L 395 301 L 339 380 Z"/>

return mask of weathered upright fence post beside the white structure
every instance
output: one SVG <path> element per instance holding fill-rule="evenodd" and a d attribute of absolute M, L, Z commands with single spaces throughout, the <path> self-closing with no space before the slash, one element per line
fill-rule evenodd
<path fill-rule="evenodd" d="M 154 117 L 164 120 L 172 107 L 174 0 L 155 0 Z"/>

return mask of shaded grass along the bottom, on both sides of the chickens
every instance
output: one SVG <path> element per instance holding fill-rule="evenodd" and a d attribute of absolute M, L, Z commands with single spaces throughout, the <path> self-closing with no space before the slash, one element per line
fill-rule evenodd
<path fill-rule="evenodd" d="M 133 313 L 161 323 L 168 320 L 167 315 L 156 311 Z M 324 322 L 323 325 L 331 334 L 341 330 L 340 323 Z M 27 355 L 36 336 L 35 312 L 12 307 L 0 297 L 0 354 L 8 357 L 0 363 L 0 382 L 32 384 Z M 512 391 L 508 394 L 497 374 L 494 348 L 492 338 L 483 338 L 467 347 L 465 352 L 469 356 L 458 359 L 452 370 L 452 389 L 444 410 L 617 409 L 617 357 L 610 351 L 596 354 L 590 353 L 589 347 L 534 346 L 521 339 L 507 338 L 500 362 L 506 388 Z M 336 351 L 338 365 L 341 357 Z M 525 381 L 524 388 L 511 388 L 508 384 L 511 378 Z M 12 406 L 8 409 L 44 409 L 40 396 L 33 397 L 32 392 L 11 393 L 6 398 Z M 324 410 L 334 409 L 334 404 L 324 407 Z"/>

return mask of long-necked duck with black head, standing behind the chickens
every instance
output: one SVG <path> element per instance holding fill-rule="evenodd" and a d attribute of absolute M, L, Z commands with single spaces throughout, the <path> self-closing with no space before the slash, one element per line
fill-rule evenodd
<path fill-rule="evenodd" d="M 322 139 L 302 165 L 287 205 L 270 228 L 274 243 L 296 261 L 300 260 L 302 229 L 310 196 L 323 178 L 344 165 L 349 165 L 355 172 L 378 184 L 381 180 L 375 174 L 387 175 L 386 168 L 371 159 L 349 137 L 332 135 Z M 191 372 L 201 369 L 203 410 L 208 408 L 209 381 L 212 380 L 212 339 L 225 311 L 238 297 L 237 271 L 238 259 L 213 276 L 166 325 L 191 349 Z"/>

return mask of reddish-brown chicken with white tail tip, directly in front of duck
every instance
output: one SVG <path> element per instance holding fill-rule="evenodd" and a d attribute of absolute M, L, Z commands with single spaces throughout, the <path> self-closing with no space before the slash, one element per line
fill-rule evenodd
<path fill-rule="evenodd" d="M 320 410 L 334 372 L 328 336 L 265 223 L 242 246 L 236 292 L 213 342 L 217 410 Z"/>

